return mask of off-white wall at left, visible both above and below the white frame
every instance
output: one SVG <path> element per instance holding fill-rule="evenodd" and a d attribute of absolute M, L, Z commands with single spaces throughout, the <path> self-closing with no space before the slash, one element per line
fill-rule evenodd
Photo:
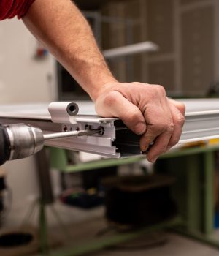
<path fill-rule="evenodd" d="M 55 100 L 55 61 L 52 56 L 34 59 L 36 42 L 22 20 L 0 22 L 0 104 Z M 22 213 L 38 195 L 34 157 L 4 167 L 13 192 L 12 211 Z"/>

